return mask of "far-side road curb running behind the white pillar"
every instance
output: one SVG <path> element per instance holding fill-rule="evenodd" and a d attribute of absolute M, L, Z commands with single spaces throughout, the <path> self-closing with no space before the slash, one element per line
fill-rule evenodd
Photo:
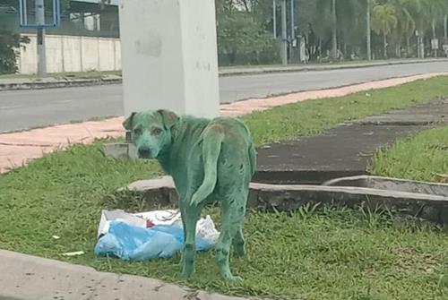
<path fill-rule="evenodd" d="M 363 64 L 325 64 L 325 65 L 294 65 L 294 66 L 264 66 L 254 68 L 221 68 L 220 77 L 241 76 L 241 75 L 256 75 L 263 73 L 295 73 L 295 72 L 310 72 L 310 71 L 329 71 L 329 70 L 344 70 L 344 69 L 358 69 L 366 67 L 375 67 L 392 64 L 424 64 L 448 62 L 448 58 L 434 58 L 426 60 L 403 60 L 403 61 L 384 61 L 379 63 L 363 63 Z M 0 91 L 4 90 L 41 90 L 41 89 L 56 89 L 67 87 L 82 87 L 82 86 L 96 86 L 106 84 L 120 84 L 122 77 L 118 75 L 108 75 L 93 78 L 42 78 L 42 79 L 0 79 Z"/>

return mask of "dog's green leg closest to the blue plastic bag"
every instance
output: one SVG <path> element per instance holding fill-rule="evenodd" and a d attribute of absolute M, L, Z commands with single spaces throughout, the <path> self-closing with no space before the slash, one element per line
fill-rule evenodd
<path fill-rule="evenodd" d="M 180 201 L 180 212 L 184 225 L 184 249 L 182 252 L 182 275 L 189 278 L 194 273 L 194 258 L 196 255 L 196 224 L 201 215 L 201 209 L 192 206 L 187 201 Z"/>

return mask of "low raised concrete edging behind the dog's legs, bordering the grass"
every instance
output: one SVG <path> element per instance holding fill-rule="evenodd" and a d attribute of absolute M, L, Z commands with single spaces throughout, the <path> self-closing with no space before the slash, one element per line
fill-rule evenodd
<path fill-rule="evenodd" d="M 345 184 L 339 184 L 344 181 L 342 178 L 332 185 L 251 183 L 247 207 L 252 210 L 280 211 L 297 210 L 314 204 L 353 209 L 383 208 L 395 212 L 397 216 L 448 224 L 448 184 L 408 182 L 405 186 L 399 180 L 383 177 L 375 178 L 376 184 L 359 184 L 360 180 L 345 178 Z M 144 210 L 177 206 L 177 194 L 169 176 L 141 180 L 129 184 L 125 190 L 142 196 Z"/>

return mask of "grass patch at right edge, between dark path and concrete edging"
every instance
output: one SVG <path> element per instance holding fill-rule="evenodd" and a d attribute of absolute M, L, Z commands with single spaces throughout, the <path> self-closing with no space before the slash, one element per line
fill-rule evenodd
<path fill-rule="evenodd" d="M 448 126 L 396 141 L 376 153 L 370 169 L 375 175 L 448 183 Z"/>

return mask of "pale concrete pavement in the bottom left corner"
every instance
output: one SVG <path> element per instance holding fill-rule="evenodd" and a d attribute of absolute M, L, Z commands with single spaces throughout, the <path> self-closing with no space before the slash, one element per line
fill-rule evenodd
<path fill-rule="evenodd" d="M 4 250 L 0 250 L 0 299 L 243 300 Z"/>

